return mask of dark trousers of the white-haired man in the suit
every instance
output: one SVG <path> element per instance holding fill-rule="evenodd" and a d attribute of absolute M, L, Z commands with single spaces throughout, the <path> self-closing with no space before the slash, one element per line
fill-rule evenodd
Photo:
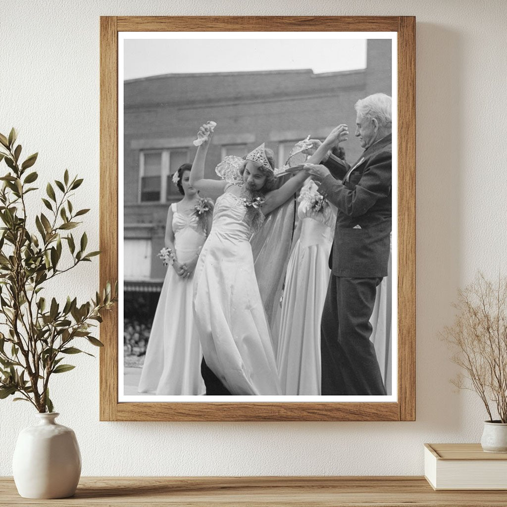
<path fill-rule="evenodd" d="M 320 325 L 323 395 L 385 395 L 369 322 L 382 278 L 331 275 Z"/>

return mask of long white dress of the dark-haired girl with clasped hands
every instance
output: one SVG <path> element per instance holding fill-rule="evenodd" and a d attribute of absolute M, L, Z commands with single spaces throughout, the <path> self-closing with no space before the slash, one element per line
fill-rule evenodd
<path fill-rule="evenodd" d="M 171 205 L 174 249 L 178 262 L 191 261 L 206 240 L 196 215 Z M 205 393 L 201 377 L 202 352 L 194 332 L 193 275 L 182 278 L 167 267 L 153 319 L 148 349 L 139 381 L 139 392 L 165 395 Z"/>

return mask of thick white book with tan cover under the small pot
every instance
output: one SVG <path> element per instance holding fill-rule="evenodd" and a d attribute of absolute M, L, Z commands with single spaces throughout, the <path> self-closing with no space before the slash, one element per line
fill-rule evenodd
<path fill-rule="evenodd" d="M 484 452 L 481 444 L 424 444 L 424 477 L 436 490 L 507 490 L 507 453 Z"/>

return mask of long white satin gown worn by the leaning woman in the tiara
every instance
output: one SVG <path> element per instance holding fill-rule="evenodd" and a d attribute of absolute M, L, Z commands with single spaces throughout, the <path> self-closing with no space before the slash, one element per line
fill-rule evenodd
<path fill-rule="evenodd" d="M 233 395 L 281 394 L 241 198 L 215 203 L 194 275 L 195 329 L 206 365 Z"/>

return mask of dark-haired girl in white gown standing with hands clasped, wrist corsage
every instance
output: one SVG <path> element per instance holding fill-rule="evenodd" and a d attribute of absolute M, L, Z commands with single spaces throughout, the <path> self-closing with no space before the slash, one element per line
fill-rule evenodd
<path fill-rule="evenodd" d="M 183 164 L 173 178 L 184 198 L 171 204 L 167 213 L 165 246 L 172 251 L 173 263 L 167 267 L 153 319 L 139 392 L 205 392 L 202 352 L 193 330 L 192 283 L 199 252 L 211 227 L 212 205 L 200 199 L 190 186 L 191 167 Z"/>

